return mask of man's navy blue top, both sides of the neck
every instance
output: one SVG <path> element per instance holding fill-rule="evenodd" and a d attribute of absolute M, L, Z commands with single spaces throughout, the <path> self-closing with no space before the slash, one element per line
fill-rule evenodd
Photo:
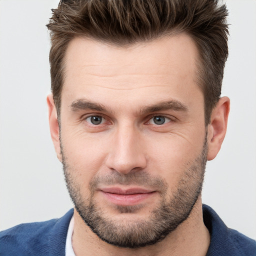
<path fill-rule="evenodd" d="M 228 228 L 216 212 L 203 205 L 203 220 L 211 234 L 206 256 L 256 256 L 256 241 Z M 0 232 L 0 256 L 64 256 L 73 209 L 63 217 L 26 223 Z"/>

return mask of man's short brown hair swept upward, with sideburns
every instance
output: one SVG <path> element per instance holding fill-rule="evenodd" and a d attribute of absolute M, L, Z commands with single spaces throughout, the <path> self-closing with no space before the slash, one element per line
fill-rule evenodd
<path fill-rule="evenodd" d="M 221 93 L 228 55 L 227 10 L 217 0 L 61 0 L 49 24 L 51 91 L 59 114 L 67 45 L 77 36 L 118 46 L 185 32 L 199 51 L 205 124 Z"/>

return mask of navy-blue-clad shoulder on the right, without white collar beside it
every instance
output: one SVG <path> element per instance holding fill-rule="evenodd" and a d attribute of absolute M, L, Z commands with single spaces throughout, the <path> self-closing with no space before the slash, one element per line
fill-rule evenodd
<path fill-rule="evenodd" d="M 256 241 L 228 228 L 207 205 L 203 205 L 203 221 L 211 235 L 207 256 L 256 256 Z"/>

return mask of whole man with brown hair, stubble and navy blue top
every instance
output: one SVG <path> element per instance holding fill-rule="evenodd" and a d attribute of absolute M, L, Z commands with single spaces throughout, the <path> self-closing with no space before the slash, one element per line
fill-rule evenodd
<path fill-rule="evenodd" d="M 1 232 L 1 255 L 256 255 L 201 203 L 229 99 L 215 0 L 62 1 L 51 31 L 51 137 L 74 210 Z"/>

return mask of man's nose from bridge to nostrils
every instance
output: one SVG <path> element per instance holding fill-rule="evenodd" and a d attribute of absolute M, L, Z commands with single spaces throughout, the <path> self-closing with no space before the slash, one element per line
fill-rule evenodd
<path fill-rule="evenodd" d="M 129 173 L 146 166 L 145 147 L 142 135 L 134 127 L 119 127 L 109 145 L 106 165 L 119 173 Z"/>

